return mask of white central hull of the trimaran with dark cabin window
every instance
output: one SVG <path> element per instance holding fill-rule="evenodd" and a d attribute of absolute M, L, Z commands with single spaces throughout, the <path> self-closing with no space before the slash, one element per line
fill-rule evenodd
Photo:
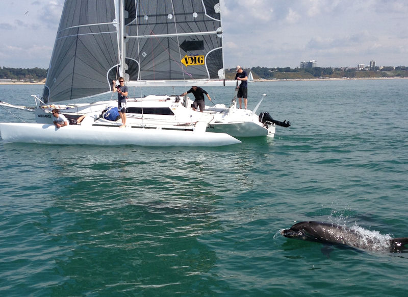
<path fill-rule="evenodd" d="M 167 95 L 149 95 L 144 98 L 130 98 L 127 100 L 126 123 L 131 126 L 162 128 L 194 126 L 196 122 L 207 122 L 207 132 L 226 133 L 233 137 L 273 137 L 275 125 L 265 125 L 259 117 L 250 110 L 237 109 L 234 106 L 225 107 L 218 104 L 214 107 L 206 106 L 204 112 L 191 109 L 193 102 L 188 98 Z M 95 119 L 95 123 L 115 125 L 107 122 L 102 116 L 103 111 L 117 105 L 116 101 L 96 102 L 89 105 L 70 105 L 60 107 L 60 112 L 67 117 L 78 117 L 87 114 Z M 38 123 L 52 123 L 49 108 L 36 110 Z"/>

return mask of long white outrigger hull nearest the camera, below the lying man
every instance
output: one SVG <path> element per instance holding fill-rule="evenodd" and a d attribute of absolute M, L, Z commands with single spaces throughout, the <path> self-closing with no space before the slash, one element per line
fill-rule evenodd
<path fill-rule="evenodd" d="M 38 144 L 222 146 L 240 143 L 224 133 L 69 125 L 56 128 L 41 123 L 0 123 L 5 142 Z"/>

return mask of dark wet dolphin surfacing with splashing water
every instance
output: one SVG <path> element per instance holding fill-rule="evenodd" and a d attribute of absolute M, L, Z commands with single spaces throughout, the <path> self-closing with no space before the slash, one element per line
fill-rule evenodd
<path fill-rule="evenodd" d="M 362 228 L 346 228 L 340 225 L 302 221 L 290 229 L 282 230 L 281 234 L 288 238 L 317 241 L 330 244 L 341 244 L 352 248 L 376 252 L 405 253 L 408 252 L 408 237 L 392 238 L 378 232 Z"/>

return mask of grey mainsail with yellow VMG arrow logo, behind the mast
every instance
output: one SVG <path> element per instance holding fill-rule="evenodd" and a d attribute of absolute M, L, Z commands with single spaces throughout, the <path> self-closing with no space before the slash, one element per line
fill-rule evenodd
<path fill-rule="evenodd" d="M 136 18 L 126 24 L 130 80 L 223 79 L 218 0 L 137 4 Z"/>

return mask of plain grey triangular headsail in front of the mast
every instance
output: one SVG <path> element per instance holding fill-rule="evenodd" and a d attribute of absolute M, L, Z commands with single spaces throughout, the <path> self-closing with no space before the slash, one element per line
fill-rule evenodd
<path fill-rule="evenodd" d="M 110 90 L 118 64 L 112 0 L 65 1 L 43 92 L 43 102 L 66 101 Z"/>

